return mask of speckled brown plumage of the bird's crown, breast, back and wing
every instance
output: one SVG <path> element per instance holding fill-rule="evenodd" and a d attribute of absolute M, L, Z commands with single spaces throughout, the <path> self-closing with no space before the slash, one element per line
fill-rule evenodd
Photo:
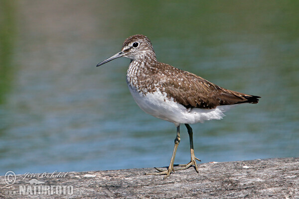
<path fill-rule="evenodd" d="M 140 40 L 147 41 L 146 47 L 152 49 L 149 39 L 144 35 L 129 37 L 125 40 L 123 48 Z M 154 51 L 152 49 L 147 52 Z M 135 87 L 144 95 L 158 89 L 165 93 L 169 100 L 173 99 L 186 108 L 215 108 L 218 105 L 258 103 L 260 98 L 221 88 L 195 74 L 160 63 L 154 53 L 145 54 L 143 59 L 133 60 L 131 65 L 127 74 L 127 81 L 131 87 Z"/>

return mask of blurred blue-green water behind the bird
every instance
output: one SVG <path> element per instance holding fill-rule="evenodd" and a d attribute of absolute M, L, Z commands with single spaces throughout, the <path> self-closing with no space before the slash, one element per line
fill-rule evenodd
<path fill-rule="evenodd" d="M 261 96 L 193 124 L 205 162 L 298 157 L 299 1 L 0 1 L 0 175 L 168 166 L 175 126 L 144 113 L 129 59 L 96 65 L 133 34 L 157 59 Z M 181 126 L 175 164 L 190 160 Z"/>

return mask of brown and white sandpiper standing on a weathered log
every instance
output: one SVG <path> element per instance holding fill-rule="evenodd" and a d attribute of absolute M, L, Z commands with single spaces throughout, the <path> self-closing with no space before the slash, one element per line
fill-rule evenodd
<path fill-rule="evenodd" d="M 128 37 L 119 53 L 100 62 L 101 66 L 114 59 L 126 57 L 131 60 L 127 71 L 127 84 L 134 100 L 146 113 L 172 122 L 176 137 L 170 164 L 166 170 L 146 175 L 165 175 L 193 166 L 198 173 L 193 147 L 193 131 L 190 124 L 212 119 L 222 119 L 224 112 L 240 103 L 258 103 L 259 96 L 246 95 L 217 86 L 195 74 L 157 61 L 153 46 L 147 36 L 136 34 Z M 191 160 L 177 165 L 174 158 L 180 142 L 180 124 L 187 128 Z"/>

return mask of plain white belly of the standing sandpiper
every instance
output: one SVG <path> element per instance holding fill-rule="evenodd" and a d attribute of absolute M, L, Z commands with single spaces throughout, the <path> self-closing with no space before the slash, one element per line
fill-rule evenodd
<path fill-rule="evenodd" d="M 202 108 L 186 108 L 185 106 L 174 102 L 172 99 L 168 100 L 166 95 L 160 91 L 154 93 L 147 93 L 143 96 L 136 90 L 129 87 L 129 90 L 139 105 L 139 107 L 146 113 L 166 121 L 179 124 L 193 124 L 203 122 L 211 119 L 222 119 L 224 111 L 234 105 L 221 105 L 213 109 Z"/>

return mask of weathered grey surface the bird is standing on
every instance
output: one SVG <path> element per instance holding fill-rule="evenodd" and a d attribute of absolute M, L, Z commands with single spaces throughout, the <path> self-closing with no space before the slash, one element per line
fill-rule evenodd
<path fill-rule="evenodd" d="M 0 198 L 299 198 L 299 158 L 204 163 L 199 164 L 199 174 L 189 168 L 176 171 L 166 180 L 163 176 L 144 175 L 148 172 L 155 170 L 68 172 L 47 177 L 17 175 L 13 185 L 7 185 L 1 176 Z M 34 185 L 38 183 L 42 184 Z M 34 193 L 33 189 L 38 191 L 46 186 L 50 189 L 47 193 Z M 61 195 L 55 194 L 55 189 L 60 189 L 57 187 L 64 189 Z M 23 195 L 19 195 L 20 191 Z M 53 195 L 44 195 L 51 191 Z"/>

